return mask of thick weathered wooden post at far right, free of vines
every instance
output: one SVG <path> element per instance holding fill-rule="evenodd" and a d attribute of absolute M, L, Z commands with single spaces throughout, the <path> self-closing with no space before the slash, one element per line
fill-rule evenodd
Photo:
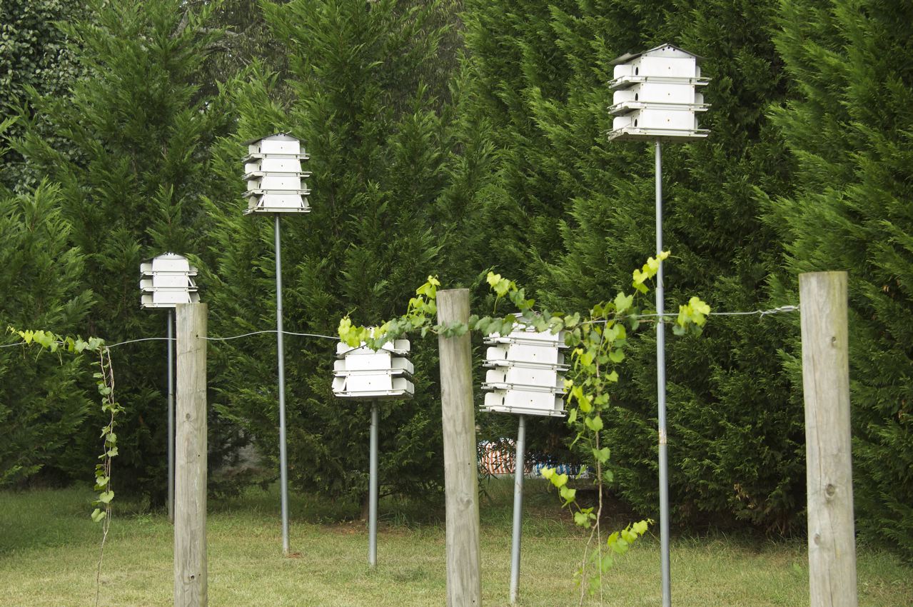
<path fill-rule="evenodd" d="M 846 272 L 799 276 L 811 607 L 856 607 Z"/>

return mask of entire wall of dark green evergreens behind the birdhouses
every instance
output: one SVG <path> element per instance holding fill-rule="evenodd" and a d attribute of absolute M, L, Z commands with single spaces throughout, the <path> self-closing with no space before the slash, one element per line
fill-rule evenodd
<path fill-rule="evenodd" d="M 115 0 L 89 3 L 72 26 L 55 25 L 74 10 L 63 0 L 2 10 L 0 106 L 16 122 L 0 161 L 0 320 L 112 341 L 163 333 L 138 309 L 136 280 L 140 260 L 166 250 L 203 270 L 214 335 L 273 326 L 272 225 L 240 215 L 239 161 L 242 141 L 275 131 L 312 154 L 312 212 L 282 222 L 287 330 L 402 313 L 432 273 L 473 288 L 484 312 L 488 268 L 552 309 L 583 311 L 626 288 L 654 246 L 653 148 L 605 138 L 610 62 L 664 42 L 698 54 L 712 134 L 663 147 L 667 300 L 767 309 L 796 302 L 800 272 L 850 272 L 858 526 L 911 554 L 908 5 Z M 667 345 L 677 524 L 803 532 L 797 336 L 797 317 L 717 317 Z M 656 517 L 644 338 L 603 432 L 614 493 Z M 366 407 L 331 397 L 329 344 L 287 340 L 291 479 L 358 499 Z M 0 419 L 48 438 L 22 459 L 5 437 L 2 483 L 34 482 L 43 466 L 81 474 L 96 413 L 79 370 L 11 350 L 0 351 Z M 212 351 L 214 461 L 252 440 L 268 480 L 273 341 Z M 121 352 L 131 418 L 117 464 L 123 488 L 157 502 L 163 348 Z M 432 340 L 415 344 L 416 398 L 383 409 L 393 493 L 433 495 L 441 478 L 435 356 Z M 479 424 L 488 438 L 514 432 L 503 417 Z M 531 426 L 531 450 L 573 457 L 560 422 Z"/>

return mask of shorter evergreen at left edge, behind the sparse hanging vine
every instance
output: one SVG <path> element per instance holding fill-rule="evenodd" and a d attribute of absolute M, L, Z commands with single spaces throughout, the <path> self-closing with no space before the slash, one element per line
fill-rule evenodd
<path fill-rule="evenodd" d="M 41 183 L 29 194 L 0 194 L 0 322 L 4 330 L 75 334 L 91 303 L 82 282 L 83 256 L 69 246 L 57 187 Z M 7 342 L 7 340 L 4 340 Z M 23 486 L 39 473 L 46 482 L 70 474 L 89 477 L 79 430 L 92 401 L 80 379 L 86 361 L 0 349 L 0 487 Z"/>

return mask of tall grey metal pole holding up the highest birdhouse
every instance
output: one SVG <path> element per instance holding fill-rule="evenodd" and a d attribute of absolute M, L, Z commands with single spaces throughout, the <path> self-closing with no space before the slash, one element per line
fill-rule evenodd
<path fill-rule="evenodd" d="M 656 140 L 656 255 L 663 251 L 663 158 Z M 658 257 L 657 257 L 658 258 Z M 672 604 L 669 576 L 669 479 L 666 461 L 666 325 L 664 324 L 663 262 L 656 272 L 656 392 L 659 405 L 659 544 L 663 576 L 663 607 Z"/>

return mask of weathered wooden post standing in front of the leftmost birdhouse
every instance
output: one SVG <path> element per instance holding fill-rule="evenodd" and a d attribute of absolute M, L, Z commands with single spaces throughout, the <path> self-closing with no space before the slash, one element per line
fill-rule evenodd
<path fill-rule="evenodd" d="M 206 605 L 206 304 L 177 305 L 174 607 Z"/>

